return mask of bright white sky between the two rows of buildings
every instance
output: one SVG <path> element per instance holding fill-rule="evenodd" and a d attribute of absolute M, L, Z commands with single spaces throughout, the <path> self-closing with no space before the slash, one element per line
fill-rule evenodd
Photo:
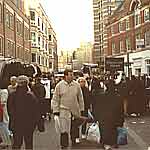
<path fill-rule="evenodd" d="M 57 34 L 58 49 L 93 41 L 92 0 L 42 0 Z"/>

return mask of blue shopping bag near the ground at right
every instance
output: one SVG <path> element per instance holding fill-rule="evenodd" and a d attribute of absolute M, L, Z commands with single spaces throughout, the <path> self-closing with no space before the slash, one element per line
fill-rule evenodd
<path fill-rule="evenodd" d="M 117 137 L 117 144 L 118 145 L 126 145 L 128 144 L 127 141 L 127 129 L 123 127 L 117 128 L 118 137 Z"/>

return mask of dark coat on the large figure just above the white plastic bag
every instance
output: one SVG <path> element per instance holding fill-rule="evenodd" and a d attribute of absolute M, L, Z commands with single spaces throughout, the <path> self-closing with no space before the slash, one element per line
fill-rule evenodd
<path fill-rule="evenodd" d="M 103 89 L 100 89 L 95 90 L 92 97 L 96 120 L 111 126 L 123 125 L 123 101 L 119 95 L 104 93 Z"/>

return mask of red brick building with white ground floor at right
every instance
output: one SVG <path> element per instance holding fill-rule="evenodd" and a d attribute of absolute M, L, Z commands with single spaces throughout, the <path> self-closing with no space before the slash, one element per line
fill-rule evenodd
<path fill-rule="evenodd" d="M 107 31 L 106 57 L 124 57 L 127 74 L 150 75 L 150 0 L 125 0 Z"/>

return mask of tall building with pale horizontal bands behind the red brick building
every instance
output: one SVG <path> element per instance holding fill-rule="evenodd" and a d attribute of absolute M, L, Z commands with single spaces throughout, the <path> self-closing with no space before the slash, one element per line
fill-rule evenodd
<path fill-rule="evenodd" d="M 93 0 L 94 11 L 94 48 L 93 61 L 104 70 L 105 51 L 107 50 L 107 29 L 109 16 L 124 0 Z"/>

